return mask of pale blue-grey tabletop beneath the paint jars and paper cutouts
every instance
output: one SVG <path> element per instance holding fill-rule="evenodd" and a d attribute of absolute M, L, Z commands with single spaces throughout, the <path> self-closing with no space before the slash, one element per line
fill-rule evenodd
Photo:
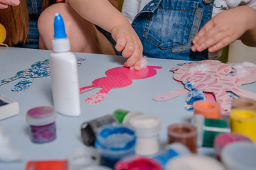
<path fill-rule="evenodd" d="M 17 72 L 30 68 L 31 64 L 48 59 L 50 52 L 48 50 L 0 47 L 0 80 L 14 77 Z M 75 56 L 86 59 L 78 67 L 80 87 L 89 86 L 93 80 L 105 77 L 105 72 L 108 69 L 120 67 L 125 61 L 121 56 L 112 55 L 75 53 Z M 183 108 L 186 95 L 169 101 L 154 101 L 152 97 L 182 89 L 183 85 L 174 81 L 173 72 L 169 72 L 169 69 L 176 67 L 178 63 L 188 61 L 151 58 L 148 61 L 151 66 L 163 67 L 156 69 L 157 74 L 154 77 L 133 80 L 130 86 L 111 89 L 103 101 L 93 105 L 85 103 L 85 98 L 97 93 L 100 88 L 80 94 L 81 115 L 68 117 L 58 114 L 57 138 L 53 142 L 45 144 L 31 142 L 28 136 L 26 112 L 38 106 L 53 106 L 50 76 L 34 79 L 33 84 L 26 91 L 11 91 L 11 88 L 21 79 L 0 86 L 0 94 L 19 103 L 20 113 L 14 117 L 0 120 L 0 126 L 9 136 L 12 147 L 23 155 L 19 162 L 0 162 L 0 169 L 25 169 L 26 162 L 29 160 L 65 159 L 68 152 L 85 146 L 80 136 L 82 123 L 102 115 L 112 114 L 119 108 L 157 115 L 162 123 L 160 140 L 164 145 L 167 140 L 167 126 L 174 123 L 187 123 L 193 113 Z M 242 85 L 242 88 L 256 93 L 256 83 Z M 198 153 L 214 156 L 213 148 L 199 148 Z"/>

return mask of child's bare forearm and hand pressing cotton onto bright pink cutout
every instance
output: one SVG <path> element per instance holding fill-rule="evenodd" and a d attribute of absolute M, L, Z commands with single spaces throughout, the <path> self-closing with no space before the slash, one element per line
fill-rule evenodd
<path fill-rule="evenodd" d="M 125 67 L 134 66 L 134 69 L 139 69 L 143 51 L 142 42 L 127 18 L 112 6 L 110 1 L 68 0 L 68 2 L 80 16 L 112 34 L 117 41 L 116 49 L 122 51 L 123 57 L 128 58 L 124 63 Z"/>

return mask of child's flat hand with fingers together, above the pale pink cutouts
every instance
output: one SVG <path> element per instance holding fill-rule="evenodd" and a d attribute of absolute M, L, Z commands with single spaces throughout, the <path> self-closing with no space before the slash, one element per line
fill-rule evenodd
<path fill-rule="evenodd" d="M 193 38 L 191 50 L 215 52 L 237 39 L 256 47 L 256 10 L 238 6 L 218 13 Z"/>

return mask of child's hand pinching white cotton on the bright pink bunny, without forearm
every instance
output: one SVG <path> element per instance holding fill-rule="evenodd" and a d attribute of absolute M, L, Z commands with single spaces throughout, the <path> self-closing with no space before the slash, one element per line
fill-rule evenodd
<path fill-rule="evenodd" d="M 122 51 L 122 56 L 128 58 L 124 67 L 134 67 L 140 69 L 140 60 L 142 59 L 142 42 L 137 33 L 129 23 L 120 24 L 111 30 L 112 37 L 116 40 L 117 51 Z"/>

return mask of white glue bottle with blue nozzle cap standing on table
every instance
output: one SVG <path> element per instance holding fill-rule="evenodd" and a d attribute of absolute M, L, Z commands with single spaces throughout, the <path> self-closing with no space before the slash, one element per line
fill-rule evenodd
<path fill-rule="evenodd" d="M 70 52 L 70 42 L 60 13 L 55 13 L 52 43 L 50 77 L 55 111 L 63 115 L 78 116 L 80 115 L 80 93 L 77 61 L 75 55 Z"/>

